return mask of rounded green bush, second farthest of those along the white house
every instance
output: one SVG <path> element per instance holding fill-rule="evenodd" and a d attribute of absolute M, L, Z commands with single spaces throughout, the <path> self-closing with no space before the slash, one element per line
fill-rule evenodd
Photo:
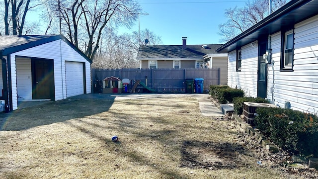
<path fill-rule="evenodd" d="M 232 88 L 219 89 L 215 95 L 220 104 L 233 103 L 233 99 L 235 97 L 244 96 L 244 91 L 242 89 L 232 89 Z"/>

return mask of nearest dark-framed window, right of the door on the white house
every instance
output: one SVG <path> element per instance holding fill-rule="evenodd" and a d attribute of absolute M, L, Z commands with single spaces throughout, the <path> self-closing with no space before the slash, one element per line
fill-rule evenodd
<path fill-rule="evenodd" d="M 294 30 L 287 31 L 282 37 L 281 69 L 292 70 L 294 59 Z"/>

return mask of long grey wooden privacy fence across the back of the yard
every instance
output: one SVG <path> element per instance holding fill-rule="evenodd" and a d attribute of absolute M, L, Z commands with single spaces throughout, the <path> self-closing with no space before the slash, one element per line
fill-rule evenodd
<path fill-rule="evenodd" d="M 220 68 L 212 69 L 92 69 L 93 92 L 102 92 L 102 81 L 107 77 L 129 79 L 128 91 L 140 80 L 158 92 L 185 92 L 186 79 L 203 78 L 203 90 L 220 84 Z M 138 86 L 136 92 L 145 88 Z"/>

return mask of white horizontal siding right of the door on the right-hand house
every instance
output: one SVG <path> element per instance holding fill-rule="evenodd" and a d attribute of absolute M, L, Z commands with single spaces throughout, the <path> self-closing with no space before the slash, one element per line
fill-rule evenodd
<path fill-rule="evenodd" d="M 284 107 L 316 113 L 318 111 L 318 16 L 295 25 L 293 72 L 280 72 L 280 33 L 272 35 L 272 61 L 269 66 L 268 86 L 273 87 L 268 98 Z M 274 69 L 274 83 L 273 70 Z M 273 96 L 273 98 L 272 98 Z"/>

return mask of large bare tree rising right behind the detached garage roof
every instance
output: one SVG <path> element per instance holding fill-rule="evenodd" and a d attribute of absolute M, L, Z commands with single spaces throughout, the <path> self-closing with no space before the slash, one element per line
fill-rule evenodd
<path fill-rule="evenodd" d="M 135 0 L 75 0 L 65 4 L 67 6 L 61 8 L 64 31 L 75 46 L 85 44 L 82 50 L 91 60 L 107 24 L 131 26 L 141 11 Z"/>

